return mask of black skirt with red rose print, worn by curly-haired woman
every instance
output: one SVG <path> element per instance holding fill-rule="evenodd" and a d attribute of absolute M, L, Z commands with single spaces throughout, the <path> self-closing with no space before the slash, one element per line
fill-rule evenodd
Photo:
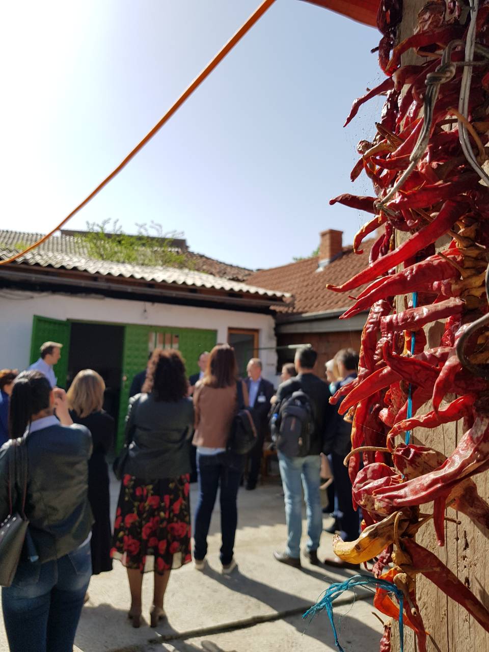
<path fill-rule="evenodd" d="M 189 475 L 141 480 L 126 474 L 113 528 L 111 556 L 128 569 L 164 574 L 192 561 Z"/>

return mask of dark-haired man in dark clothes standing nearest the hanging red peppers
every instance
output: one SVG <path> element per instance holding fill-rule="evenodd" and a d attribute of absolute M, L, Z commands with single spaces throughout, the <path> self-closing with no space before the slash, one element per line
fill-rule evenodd
<path fill-rule="evenodd" d="M 335 391 L 347 385 L 354 378 L 357 378 L 357 368 L 359 356 L 353 349 L 341 349 L 334 356 L 334 362 L 338 369 L 338 376 L 342 380 L 334 385 Z M 338 415 L 344 397 L 340 398 L 334 406 L 333 414 L 328 423 L 325 434 L 324 449 L 325 454 L 331 453 L 333 462 L 333 475 L 336 497 L 338 499 L 338 530 L 340 537 L 344 541 L 355 541 L 359 536 L 359 513 L 353 509 L 351 502 L 351 482 L 348 475 L 348 468 L 344 466 L 343 460 L 351 451 L 351 423 L 344 421 L 343 417 Z M 324 560 L 329 566 L 348 568 L 348 564 L 339 557 L 330 556 Z"/>

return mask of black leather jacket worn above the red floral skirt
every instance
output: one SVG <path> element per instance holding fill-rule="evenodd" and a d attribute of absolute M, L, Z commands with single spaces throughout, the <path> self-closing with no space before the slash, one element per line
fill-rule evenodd
<path fill-rule="evenodd" d="M 194 404 L 156 401 L 152 394 L 129 400 L 126 441 L 130 441 L 124 472 L 144 480 L 177 478 L 190 473 L 190 437 Z"/>

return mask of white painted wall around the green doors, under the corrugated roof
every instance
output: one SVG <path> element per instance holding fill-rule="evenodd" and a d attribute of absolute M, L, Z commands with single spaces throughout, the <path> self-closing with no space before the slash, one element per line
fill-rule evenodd
<path fill-rule="evenodd" d="M 98 295 L 62 295 L 0 289 L 0 368 L 25 369 L 29 364 L 33 315 L 154 326 L 213 329 L 226 342 L 228 328 L 259 330 L 263 376 L 275 381 L 276 338 L 269 315 L 214 308 L 175 306 Z"/>

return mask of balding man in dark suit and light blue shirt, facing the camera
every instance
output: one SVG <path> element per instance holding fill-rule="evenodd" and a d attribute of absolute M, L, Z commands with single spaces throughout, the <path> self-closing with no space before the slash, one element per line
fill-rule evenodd
<path fill-rule="evenodd" d="M 269 432 L 268 413 L 274 389 L 270 381 L 261 378 L 262 364 L 259 358 L 252 358 L 246 367 L 246 371 L 248 372 L 246 387 L 248 387 L 248 395 L 250 396 L 250 408 L 253 408 L 254 412 L 257 434 L 254 449 L 249 453 L 250 470 L 246 481 L 246 489 L 253 490 L 256 488 L 256 482 L 258 481 L 261 456 L 263 455 L 263 442 Z"/>

